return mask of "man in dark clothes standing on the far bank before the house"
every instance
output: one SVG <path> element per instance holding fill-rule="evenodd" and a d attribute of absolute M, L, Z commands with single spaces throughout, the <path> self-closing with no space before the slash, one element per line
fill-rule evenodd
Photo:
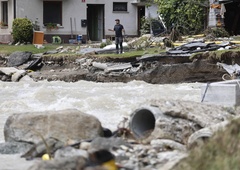
<path fill-rule="evenodd" d="M 125 34 L 125 30 L 123 25 L 120 24 L 120 20 L 116 19 L 116 25 L 114 26 L 113 30 L 112 29 L 108 29 L 108 31 L 115 31 L 115 44 L 116 44 L 116 53 L 119 53 L 119 47 L 118 45 L 120 45 L 120 53 L 123 52 L 123 34 Z"/>

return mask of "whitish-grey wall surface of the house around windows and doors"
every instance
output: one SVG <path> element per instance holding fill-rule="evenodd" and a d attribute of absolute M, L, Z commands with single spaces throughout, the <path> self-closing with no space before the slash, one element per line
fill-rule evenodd
<path fill-rule="evenodd" d="M 1 0 L 0 0 L 1 1 Z M 9 29 L 11 31 L 12 21 L 14 19 L 14 0 L 9 2 Z M 47 31 L 43 25 L 43 1 L 44 0 L 16 0 L 16 18 L 27 17 L 31 21 L 38 21 L 40 31 L 44 34 L 58 34 L 69 35 L 71 34 L 70 18 L 72 18 L 73 34 L 87 34 L 87 28 L 81 26 L 81 20 L 87 19 L 87 4 L 102 4 L 104 5 L 104 35 L 114 35 L 113 32 L 108 31 L 113 28 L 115 19 L 121 20 L 127 35 L 138 35 L 138 7 L 133 4 L 133 0 L 62 0 L 62 26 L 58 30 Z M 55 0 L 51 0 L 55 1 Z M 128 2 L 127 12 L 113 12 L 113 2 Z M 146 8 L 146 15 L 149 17 L 157 17 L 157 8 L 150 6 Z M 75 22 L 76 21 L 76 22 Z M 75 28 L 76 25 L 76 28 Z M 0 34 L 3 30 L 0 29 Z"/>

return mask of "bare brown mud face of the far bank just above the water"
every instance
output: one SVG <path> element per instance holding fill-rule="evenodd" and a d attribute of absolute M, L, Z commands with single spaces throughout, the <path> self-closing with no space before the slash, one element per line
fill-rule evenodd
<path fill-rule="evenodd" d="M 165 57 L 145 61 L 137 61 L 137 58 L 97 59 L 92 61 L 101 63 L 128 63 L 133 67 L 141 68 L 136 72 L 113 71 L 104 72 L 101 69 L 89 64 L 82 67 L 76 62 L 52 62 L 46 64 L 40 71 L 32 72 L 29 75 L 36 81 L 39 80 L 62 80 L 66 82 L 76 82 L 79 80 L 96 82 L 129 82 L 132 80 L 143 80 L 147 83 L 165 84 L 182 82 L 213 82 L 222 80 L 225 70 L 219 68 L 216 62 L 208 59 L 195 59 L 191 61 L 189 57 Z"/>

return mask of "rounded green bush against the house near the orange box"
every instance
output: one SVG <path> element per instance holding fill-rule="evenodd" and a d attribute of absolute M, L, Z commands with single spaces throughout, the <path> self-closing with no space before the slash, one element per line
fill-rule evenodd
<path fill-rule="evenodd" d="M 15 43 L 31 43 L 33 37 L 32 22 L 27 18 L 14 19 L 12 26 L 12 36 Z"/>

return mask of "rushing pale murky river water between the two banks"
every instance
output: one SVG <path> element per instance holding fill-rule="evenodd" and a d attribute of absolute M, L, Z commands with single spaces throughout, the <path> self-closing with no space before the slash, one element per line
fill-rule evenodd
<path fill-rule="evenodd" d="M 201 101 L 202 83 L 148 84 L 66 82 L 0 82 L 0 142 L 4 123 L 12 113 L 79 109 L 96 116 L 104 127 L 115 130 L 123 117 L 151 99 Z M 26 170 L 33 162 L 20 155 L 0 155 L 1 170 Z"/>

